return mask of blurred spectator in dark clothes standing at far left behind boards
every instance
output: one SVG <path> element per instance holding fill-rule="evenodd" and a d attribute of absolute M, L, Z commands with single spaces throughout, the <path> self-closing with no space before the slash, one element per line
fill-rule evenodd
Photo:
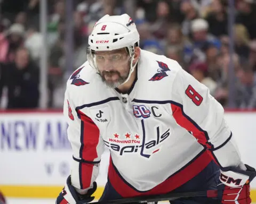
<path fill-rule="evenodd" d="M 39 99 L 39 69 L 29 58 L 27 48 L 20 47 L 14 62 L 6 64 L 5 86 L 8 89 L 7 108 L 37 108 Z"/>

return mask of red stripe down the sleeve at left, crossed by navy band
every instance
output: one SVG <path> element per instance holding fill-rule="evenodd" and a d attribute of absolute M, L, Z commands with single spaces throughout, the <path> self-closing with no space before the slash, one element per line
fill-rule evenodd
<path fill-rule="evenodd" d="M 100 131 L 90 117 L 78 111 L 81 117 L 81 149 L 80 157 L 86 161 L 93 162 L 98 157 L 97 146 L 99 143 Z M 81 189 L 86 189 L 91 185 L 93 164 L 80 163 L 79 177 Z"/>

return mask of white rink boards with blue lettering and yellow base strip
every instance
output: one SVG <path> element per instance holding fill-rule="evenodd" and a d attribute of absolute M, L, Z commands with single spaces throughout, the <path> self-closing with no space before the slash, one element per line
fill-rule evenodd
<path fill-rule="evenodd" d="M 254 158 L 256 112 L 226 112 L 244 163 Z M 55 198 L 70 174 L 72 152 L 61 112 L 0 113 L 0 190 L 13 198 Z M 98 199 L 107 180 L 108 151 L 102 155 Z M 256 181 L 251 184 L 256 202 Z"/>

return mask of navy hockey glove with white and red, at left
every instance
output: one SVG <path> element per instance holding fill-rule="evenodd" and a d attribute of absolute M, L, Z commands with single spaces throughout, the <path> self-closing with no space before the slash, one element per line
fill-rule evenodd
<path fill-rule="evenodd" d="M 92 189 L 89 189 L 86 194 L 79 194 L 73 185 L 71 185 L 71 176 L 68 176 L 65 187 L 60 192 L 55 204 L 84 204 L 93 201 L 92 194 L 97 189 L 97 183 L 93 182 Z"/>

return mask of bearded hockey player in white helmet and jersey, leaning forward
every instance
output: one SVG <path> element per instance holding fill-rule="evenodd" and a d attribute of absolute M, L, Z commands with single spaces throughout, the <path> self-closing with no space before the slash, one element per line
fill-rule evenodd
<path fill-rule="evenodd" d="M 255 169 L 242 163 L 222 106 L 176 61 L 140 49 L 129 15 L 105 15 L 94 25 L 87 59 L 67 81 L 74 160 L 56 203 L 93 200 L 105 146 L 101 201 L 213 189 L 221 203 L 251 203 Z"/>

